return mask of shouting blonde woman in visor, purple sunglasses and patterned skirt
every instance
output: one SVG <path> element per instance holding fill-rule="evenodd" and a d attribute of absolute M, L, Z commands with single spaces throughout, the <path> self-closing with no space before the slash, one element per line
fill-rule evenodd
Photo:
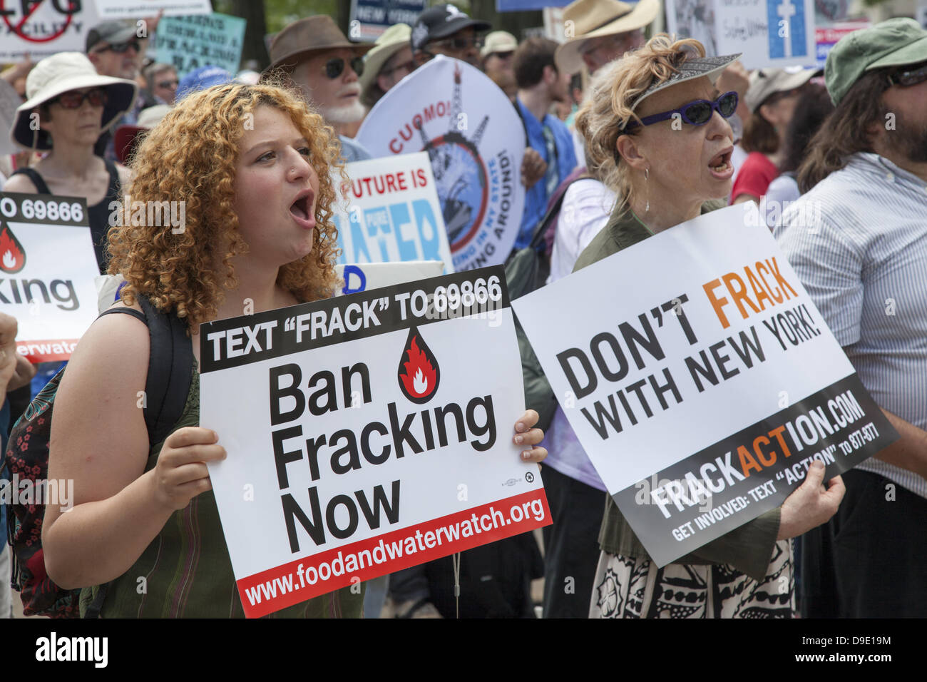
<path fill-rule="evenodd" d="M 725 204 L 733 174 L 727 118 L 737 95 L 717 92 L 714 83 L 737 57 L 705 58 L 697 41 L 661 33 L 596 73 L 577 126 L 590 163 L 618 199 L 576 269 Z M 830 519 L 844 495 L 839 477 L 822 486 L 823 473 L 812 467 L 781 508 L 663 568 L 606 495 L 590 615 L 791 617 L 789 539 Z"/>

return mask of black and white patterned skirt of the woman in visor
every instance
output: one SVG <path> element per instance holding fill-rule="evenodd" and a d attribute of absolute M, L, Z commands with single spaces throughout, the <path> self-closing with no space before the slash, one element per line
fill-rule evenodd
<path fill-rule="evenodd" d="M 590 618 L 792 618 L 792 542 L 772 552 L 757 582 L 730 565 L 671 563 L 603 552 L 593 582 Z"/>

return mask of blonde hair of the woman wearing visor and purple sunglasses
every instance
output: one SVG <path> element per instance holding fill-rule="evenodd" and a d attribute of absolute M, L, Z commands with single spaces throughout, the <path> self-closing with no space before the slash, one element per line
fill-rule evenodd
<path fill-rule="evenodd" d="M 674 41 L 667 33 L 654 35 L 640 49 L 609 62 L 596 71 L 590 83 L 590 95 L 576 116 L 576 127 L 586 140 L 586 161 L 591 174 L 616 193 L 616 207 L 628 203 L 630 168 L 617 152 L 620 135 L 635 135 L 635 126 L 624 128 L 641 118 L 631 108 L 634 100 L 654 83 L 667 81 L 690 57 L 705 57 L 705 47 L 687 38 Z"/>

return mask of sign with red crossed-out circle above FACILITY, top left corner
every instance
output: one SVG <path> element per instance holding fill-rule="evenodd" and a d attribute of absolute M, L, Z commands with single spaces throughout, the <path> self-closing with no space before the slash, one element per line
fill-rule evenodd
<path fill-rule="evenodd" d="M 83 52 L 87 32 L 98 23 L 92 3 L 68 0 L 0 2 L 0 62 L 32 61 L 57 52 Z"/>

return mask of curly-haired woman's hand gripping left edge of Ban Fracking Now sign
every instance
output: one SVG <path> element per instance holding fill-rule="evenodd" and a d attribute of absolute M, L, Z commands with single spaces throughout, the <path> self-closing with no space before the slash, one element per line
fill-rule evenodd
<path fill-rule="evenodd" d="M 215 431 L 198 426 L 184 427 L 168 436 L 152 470 L 159 506 L 183 509 L 200 493 L 212 490 L 206 462 L 225 458 L 225 448 L 218 441 Z"/>

